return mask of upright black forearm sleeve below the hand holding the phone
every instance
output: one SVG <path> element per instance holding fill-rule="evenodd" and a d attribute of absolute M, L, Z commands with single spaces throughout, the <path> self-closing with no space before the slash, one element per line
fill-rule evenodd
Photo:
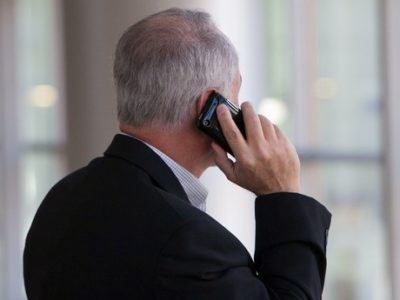
<path fill-rule="evenodd" d="M 271 298 L 321 299 L 330 220 L 323 205 L 301 194 L 256 199 L 254 258 Z"/>

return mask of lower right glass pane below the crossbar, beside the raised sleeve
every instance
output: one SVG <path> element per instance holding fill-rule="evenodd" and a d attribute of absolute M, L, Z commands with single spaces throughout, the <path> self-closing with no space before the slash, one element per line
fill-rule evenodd
<path fill-rule="evenodd" d="M 380 164 L 306 162 L 303 174 L 333 214 L 324 299 L 389 299 Z"/>

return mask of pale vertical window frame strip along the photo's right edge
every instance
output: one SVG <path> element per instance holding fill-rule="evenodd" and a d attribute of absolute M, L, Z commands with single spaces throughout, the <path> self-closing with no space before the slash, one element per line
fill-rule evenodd
<path fill-rule="evenodd" d="M 383 20 L 383 78 L 385 90 L 384 109 L 384 196 L 386 215 L 389 220 L 389 262 L 391 271 L 392 299 L 400 297 L 400 2 L 382 1 Z"/>

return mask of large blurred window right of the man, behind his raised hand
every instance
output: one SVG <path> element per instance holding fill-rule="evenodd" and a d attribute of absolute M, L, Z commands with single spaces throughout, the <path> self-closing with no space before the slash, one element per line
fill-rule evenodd
<path fill-rule="evenodd" d="M 265 101 L 284 104 L 304 191 L 333 213 L 324 299 L 390 299 L 381 2 L 266 4 Z"/>

